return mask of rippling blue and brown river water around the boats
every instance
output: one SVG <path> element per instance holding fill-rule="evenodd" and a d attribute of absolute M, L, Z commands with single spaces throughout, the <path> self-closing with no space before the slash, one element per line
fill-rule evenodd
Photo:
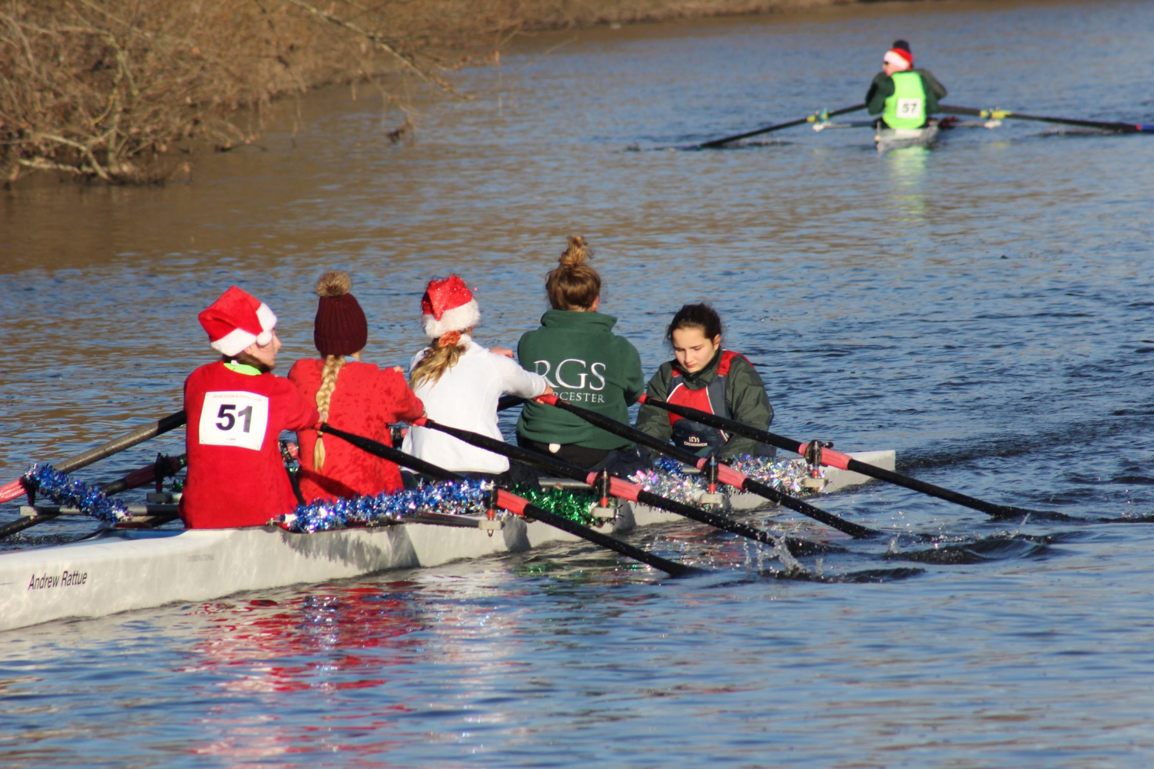
<path fill-rule="evenodd" d="M 896 37 L 951 104 L 1151 121 L 1151 29 L 1138 1 L 941 2 L 550 35 L 460 73 L 473 100 L 418 93 L 412 142 L 370 89 L 332 89 L 187 181 L 3 193 L 0 481 L 177 410 L 231 282 L 291 362 L 313 281 L 345 269 L 366 357 L 403 363 L 429 277 L 465 276 L 479 337 L 512 346 L 580 233 L 647 370 L 709 300 L 779 432 L 1087 520 L 871 484 L 823 506 L 936 552 L 844 542 L 790 579 L 684 525 L 631 541 L 704 576 L 563 548 L 9 632 L 0 762 L 1147 766 L 1154 527 L 1094 519 L 1154 512 L 1154 140 L 1007 121 L 881 157 L 862 129 L 664 148 L 856 104 Z M 77 475 L 156 451 L 179 436 Z"/>

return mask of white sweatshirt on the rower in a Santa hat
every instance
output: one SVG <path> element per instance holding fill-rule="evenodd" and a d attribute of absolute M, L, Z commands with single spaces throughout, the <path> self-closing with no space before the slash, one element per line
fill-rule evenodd
<path fill-rule="evenodd" d="M 462 334 L 465 352 L 457 364 L 445 369 L 435 384 L 422 382 L 414 390 L 425 404 L 429 419 L 503 440 L 497 429 L 497 399 L 502 394 L 535 398 L 545 392 L 545 377 L 526 371 L 504 355 L 490 353 Z M 428 349 L 413 355 L 409 371 L 425 357 Z M 434 465 L 458 473 L 504 473 L 509 460 L 478 448 L 452 436 L 428 428 L 411 428 L 402 448 Z"/>

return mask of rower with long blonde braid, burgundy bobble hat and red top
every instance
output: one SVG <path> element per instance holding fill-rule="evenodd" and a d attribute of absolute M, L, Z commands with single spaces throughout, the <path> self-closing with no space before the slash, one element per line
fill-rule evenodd
<path fill-rule="evenodd" d="M 361 362 L 368 323 L 351 289 L 352 280 L 344 272 L 325 272 L 316 281 L 320 300 L 313 341 L 321 356 L 293 363 L 288 379 L 316 404 L 321 422 L 391 446 L 390 423 L 422 416 L 425 405 L 409 387 L 400 367 Z M 396 465 L 344 440 L 325 440 L 313 425 L 298 430 L 297 440 L 306 504 L 403 488 Z"/>

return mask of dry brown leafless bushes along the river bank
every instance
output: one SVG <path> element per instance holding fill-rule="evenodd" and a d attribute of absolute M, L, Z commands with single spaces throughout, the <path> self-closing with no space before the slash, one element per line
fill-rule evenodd
<path fill-rule="evenodd" d="M 192 140 L 253 142 L 279 96 L 396 71 L 451 92 L 519 29 L 837 1 L 0 0 L 0 182 L 160 181 Z"/>

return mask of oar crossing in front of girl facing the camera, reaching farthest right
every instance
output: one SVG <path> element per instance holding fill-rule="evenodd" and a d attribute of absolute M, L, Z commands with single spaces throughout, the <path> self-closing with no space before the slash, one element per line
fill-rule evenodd
<path fill-rule="evenodd" d="M 664 408 L 667 412 L 692 420 L 694 422 L 700 422 L 702 424 L 709 424 L 710 427 L 719 428 L 728 432 L 735 432 L 737 435 L 745 436 L 747 438 L 770 444 L 771 446 L 778 446 L 779 448 L 785 448 L 786 451 L 795 451 L 807 459 L 810 458 L 809 443 L 786 438 L 785 436 L 779 436 L 775 432 L 759 430 L 748 424 L 742 424 L 741 422 L 718 416 L 717 414 L 710 414 L 709 412 L 689 408 L 688 406 L 677 406 L 657 398 L 650 398 L 649 395 L 642 395 L 640 401 L 646 406 Z M 837 467 L 842 470 L 852 470 L 854 473 L 868 475 L 871 478 L 878 478 L 879 481 L 887 481 L 914 491 L 927 493 L 931 497 L 937 497 L 966 507 L 972 507 L 973 510 L 979 510 L 988 515 L 992 515 L 994 518 L 1019 518 L 1022 515 L 1040 514 L 1037 511 L 1026 510 L 1025 507 L 996 505 L 994 503 L 975 499 L 974 497 L 969 497 L 958 491 L 943 489 L 942 487 L 934 485 L 932 483 L 927 483 L 924 481 L 919 481 L 917 478 L 912 478 L 907 475 L 901 475 L 900 473 L 894 473 L 893 470 L 887 470 L 884 467 L 877 467 L 876 465 L 870 465 L 869 462 L 862 462 L 854 459 L 849 454 L 844 454 L 840 451 L 833 451 L 827 446 L 820 446 L 819 448 L 820 455 L 818 457 L 818 461 L 822 465 L 829 465 L 830 467 Z M 1041 514 L 1048 517 L 1061 515 L 1061 513 Z"/>

